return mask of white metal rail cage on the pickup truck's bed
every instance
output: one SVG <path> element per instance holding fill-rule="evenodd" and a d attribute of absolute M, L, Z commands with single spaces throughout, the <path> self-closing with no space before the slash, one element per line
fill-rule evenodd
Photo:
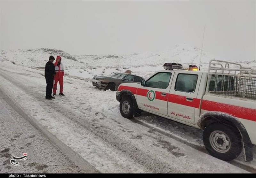
<path fill-rule="evenodd" d="M 206 92 L 256 99 L 256 70 L 213 59 L 209 62 Z"/>

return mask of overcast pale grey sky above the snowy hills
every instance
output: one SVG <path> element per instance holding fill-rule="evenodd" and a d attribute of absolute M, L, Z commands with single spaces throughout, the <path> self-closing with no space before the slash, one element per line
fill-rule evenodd
<path fill-rule="evenodd" d="M 256 59 L 256 1 L 0 0 L 0 48 L 70 54 L 164 51 L 186 43 Z"/>

